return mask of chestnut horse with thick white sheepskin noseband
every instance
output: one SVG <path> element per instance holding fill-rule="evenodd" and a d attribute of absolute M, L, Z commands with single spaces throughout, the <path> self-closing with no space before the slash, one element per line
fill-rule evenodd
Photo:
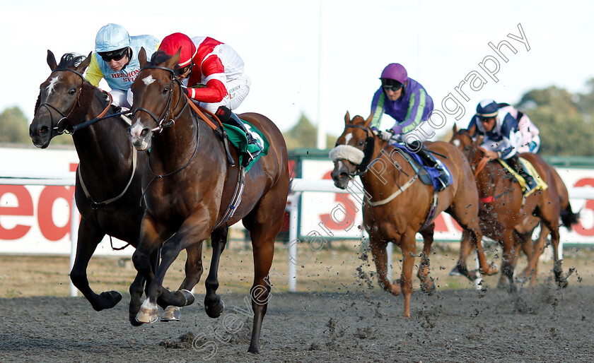
<path fill-rule="evenodd" d="M 437 209 L 431 220 L 426 221 L 433 202 L 433 186 L 417 180 L 418 174 L 404 159 L 404 156 L 386 141 L 373 135 L 371 117 L 344 117 L 345 128 L 337 140 L 337 147 L 331 152 L 334 161 L 332 179 L 342 189 L 349 180 L 361 176 L 365 201 L 363 203 L 363 224 L 369 233 L 371 252 L 378 270 L 378 278 L 385 290 L 392 294 L 404 294 L 404 316 L 410 316 L 412 293 L 412 268 L 417 253 L 415 234 L 421 233 L 424 249 L 418 277 L 426 292 L 435 289 L 429 280 L 429 253 L 433 243 L 434 218 L 445 211 L 462 226 L 464 246 L 474 246 L 480 263 L 480 273 L 493 275 L 498 272 L 489 267 L 482 250 L 482 234 L 479 227 L 479 197 L 472 170 L 460 150 L 448 143 L 427 143 L 429 150 L 436 152 L 440 160 L 450 169 L 453 184 L 438 193 Z M 439 155 L 447 155 L 441 157 Z M 392 284 L 386 276 L 387 258 L 385 246 L 394 242 L 402 249 L 402 276 L 400 286 Z M 464 251 L 464 254 L 470 253 Z M 462 256 L 462 251 L 460 252 Z M 474 279 L 460 258 L 459 269 L 469 279 Z"/>

